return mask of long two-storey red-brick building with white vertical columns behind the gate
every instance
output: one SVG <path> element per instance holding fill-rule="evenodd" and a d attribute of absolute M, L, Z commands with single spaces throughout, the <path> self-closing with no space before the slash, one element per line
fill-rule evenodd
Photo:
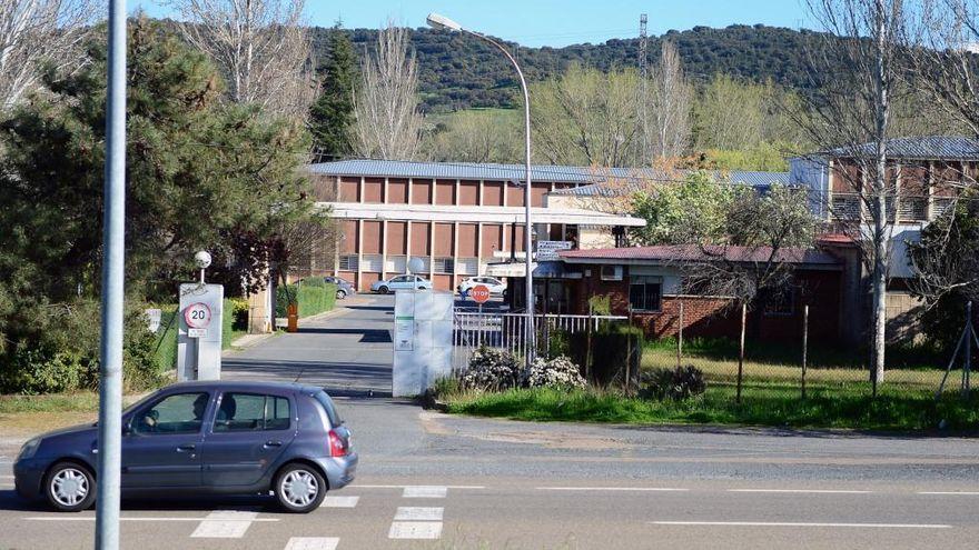
<path fill-rule="evenodd" d="M 436 289 L 506 264 L 504 277 L 523 277 L 524 167 L 346 160 L 313 164 L 317 199 L 339 221 L 330 272 L 367 290 L 405 273 L 418 258 Z M 532 171 L 533 242 L 611 247 L 624 228 L 645 224 L 629 216 L 568 204 L 548 206 L 548 193 L 591 184 L 589 168 L 536 166 Z"/>

